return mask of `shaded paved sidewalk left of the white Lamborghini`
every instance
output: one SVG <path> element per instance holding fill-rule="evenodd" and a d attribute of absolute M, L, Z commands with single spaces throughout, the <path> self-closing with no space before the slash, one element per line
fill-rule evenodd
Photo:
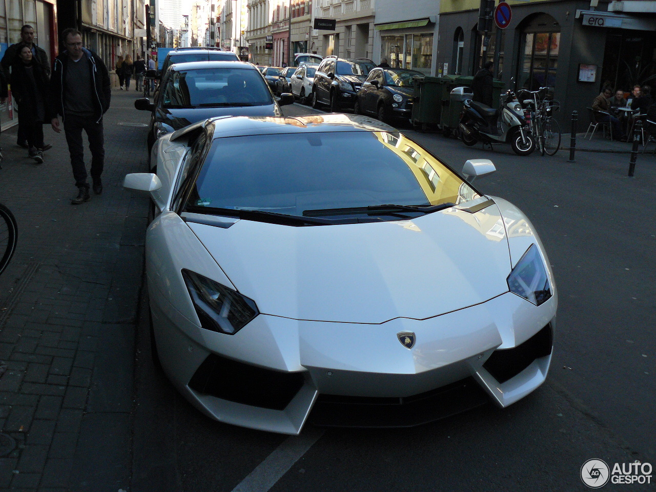
<path fill-rule="evenodd" d="M 147 202 L 123 191 L 146 171 L 148 115 L 113 91 L 105 116 L 104 192 L 77 194 L 64 134 L 36 165 L 1 134 L 0 201 L 18 248 L 0 277 L 0 489 L 127 490 L 134 326 Z M 85 160 L 91 161 L 88 146 Z"/>

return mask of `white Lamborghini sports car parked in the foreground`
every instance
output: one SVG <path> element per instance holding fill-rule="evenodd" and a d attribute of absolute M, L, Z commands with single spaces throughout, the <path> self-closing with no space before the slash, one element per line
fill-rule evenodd
<path fill-rule="evenodd" d="M 463 178 L 348 114 L 208 119 L 153 157 L 123 185 L 154 201 L 153 356 L 205 415 L 411 426 L 546 379 L 554 276 L 529 219 L 471 183 L 490 161 Z"/>

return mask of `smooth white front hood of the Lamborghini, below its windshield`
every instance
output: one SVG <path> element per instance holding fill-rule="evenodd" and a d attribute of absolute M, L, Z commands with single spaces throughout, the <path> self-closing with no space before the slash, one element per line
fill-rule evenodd
<path fill-rule="evenodd" d="M 264 314 L 384 323 L 431 318 L 508 292 L 510 255 L 496 205 L 335 226 L 188 224 Z"/>

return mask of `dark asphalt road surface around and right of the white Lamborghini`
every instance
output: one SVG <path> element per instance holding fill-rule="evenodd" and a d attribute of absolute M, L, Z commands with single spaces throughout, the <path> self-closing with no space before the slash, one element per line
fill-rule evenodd
<path fill-rule="evenodd" d="M 311 445 L 285 464 L 298 438 L 215 422 L 176 393 L 153 367 L 142 316 L 131 491 L 583 491 L 588 459 L 656 466 L 656 159 L 640 156 L 627 178 L 626 155 L 579 152 L 570 164 L 562 152 L 517 157 L 403 131 L 457 170 L 492 159 L 497 173 L 478 188 L 518 205 L 541 235 L 560 295 L 546 384 L 507 409 L 416 428 L 307 428 Z M 656 490 L 651 482 L 604 490 Z"/>

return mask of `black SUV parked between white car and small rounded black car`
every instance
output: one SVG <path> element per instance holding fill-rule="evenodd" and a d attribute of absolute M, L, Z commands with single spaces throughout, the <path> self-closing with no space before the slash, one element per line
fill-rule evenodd
<path fill-rule="evenodd" d="M 374 62 L 366 58 L 324 58 L 314 74 L 312 106 L 319 108 L 321 104 L 329 104 L 333 113 L 341 108 L 353 109 L 356 94 L 375 67 Z"/>

